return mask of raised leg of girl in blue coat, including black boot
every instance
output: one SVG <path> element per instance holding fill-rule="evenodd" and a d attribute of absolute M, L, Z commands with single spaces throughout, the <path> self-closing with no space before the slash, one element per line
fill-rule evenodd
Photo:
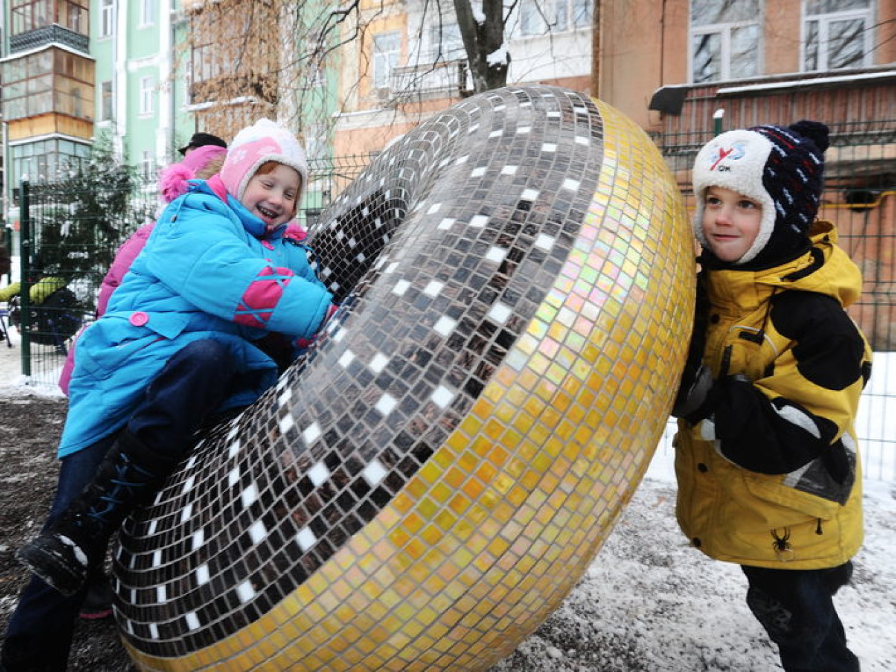
<path fill-rule="evenodd" d="M 66 595 L 82 589 L 111 535 L 168 477 L 202 419 L 226 398 L 234 378 L 229 352 L 217 340 L 197 340 L 168 361 L 88 487 L 19 551 L 23 564 Z"/>

